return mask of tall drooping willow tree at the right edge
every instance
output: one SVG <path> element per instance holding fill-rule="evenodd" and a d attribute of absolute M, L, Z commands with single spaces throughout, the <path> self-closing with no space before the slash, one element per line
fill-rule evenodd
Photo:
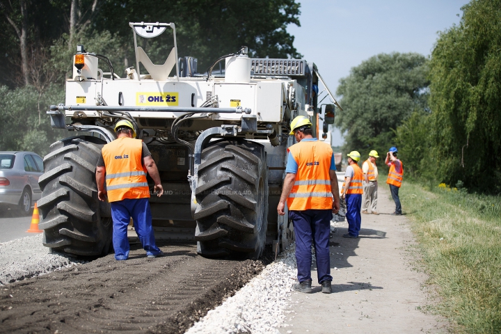
<path fill-rule="evenodd" d="M 434 161 L 438 177 L 501 190 L 501 1 L 473 0 L 431 54 Z"/>

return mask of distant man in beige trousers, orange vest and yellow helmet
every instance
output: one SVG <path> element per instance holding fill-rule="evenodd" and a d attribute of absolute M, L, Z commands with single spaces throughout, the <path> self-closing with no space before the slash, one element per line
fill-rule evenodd
<path fill-rule="evenodd" d="M 362 200 L 363 214 L 369 214 L 369 207 L 371 209 L 371 214 L 379 214 L 377 212 L 377 158 L 379 158 L 378 153 L 372 150 L 371 152 L 369 152 L 369 159 L 365 160 L 362 165 L 362 172 L 364 177 L 364 193 Z"/>

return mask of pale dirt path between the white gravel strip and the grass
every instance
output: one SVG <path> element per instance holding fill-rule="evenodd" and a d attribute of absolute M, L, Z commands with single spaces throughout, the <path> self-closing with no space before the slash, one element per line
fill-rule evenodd
<path fill-rule="evenodd" d="M 427 276 L 413 269 L 408 219 L 390 216 L 395 203 L 387 188 L 379 186 L 380 215 L 362 215 L 358 239 L 343 238 L 348 223 L 337 223 L 331 238 L 333 293 L 320 292 L 312 271 L 315 292 L 292 293 L 280 333 L 447 332 L 443 319 L 421 311 L 430 302 L 423 285 Z"/>

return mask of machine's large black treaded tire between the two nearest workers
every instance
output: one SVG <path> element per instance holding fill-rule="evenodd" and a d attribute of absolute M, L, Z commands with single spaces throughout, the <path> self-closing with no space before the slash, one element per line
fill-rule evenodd
<path fill-rule="evenodd" d="M 257 259 L 267 232 L 266 152 L 259 143 L 216 141 L 202 151 L 194 218 L 198 253 Z"/>

